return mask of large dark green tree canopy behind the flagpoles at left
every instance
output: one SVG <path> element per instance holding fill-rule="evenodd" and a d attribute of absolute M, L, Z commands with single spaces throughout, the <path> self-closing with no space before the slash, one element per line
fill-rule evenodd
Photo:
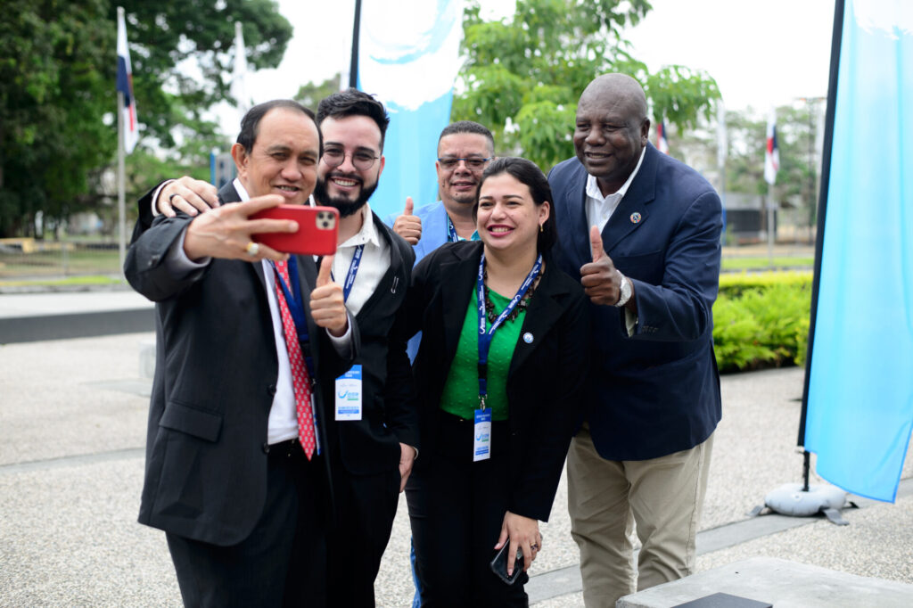
<path fill-rule="evenodd" d="M 228 98 L 235 22 L 247 61 L 278 65 L 292 28 L 273 0 L 7 0 L 0 16 L 0 236 L 35 234 L 108 198 L 117 150 L 117 6 L 124 7 L 141 147 L 127 157 L 137 194 L 155 175 L 143 146 L 175 152 L 165 174 L 206 166 L 224 143 L 208 110 Z M 134 174 L 136 173 L 136 174 Z M 40 236 L 40 235 L 38 235 Z"/>

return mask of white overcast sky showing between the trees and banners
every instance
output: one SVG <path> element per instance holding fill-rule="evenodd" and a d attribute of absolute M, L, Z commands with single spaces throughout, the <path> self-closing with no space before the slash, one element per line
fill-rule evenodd
<path fill-rule="evenodd" d="M 279 0 L 295 32 L 277 69 L 251 75 L 254 100 L 288 98 L 300 85 L 331 77 L 349 62 L 354 0 Z M 491 16 L 512 0 L 482 0 Z M 653 0 L 653 10 L 624 37 L 650 69 L 680 64 L 717 80 L 730 110 L 759 112 L 796 98 L 824 97 L 834 22 L 833 0 Z M 223 112 L 226 133 L 236 114 Z"/>

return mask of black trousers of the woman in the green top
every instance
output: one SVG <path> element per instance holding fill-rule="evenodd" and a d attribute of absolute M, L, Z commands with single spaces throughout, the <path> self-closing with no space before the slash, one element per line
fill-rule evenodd
<path fill-rule="evenodd" d="M 488 565 L 508 510 L 507 422 L 492 425 L 491 458 L 472 462 L 472 421 L 439 415 L 436 446 L 406 487 L 422 605 L 528 606 L 527 574 L 508 585 Z"/>

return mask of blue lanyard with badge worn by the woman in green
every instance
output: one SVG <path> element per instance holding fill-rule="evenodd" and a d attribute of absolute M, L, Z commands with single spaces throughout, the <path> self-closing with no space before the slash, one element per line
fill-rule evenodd
<path fill-rule="evenodd" d="M 473 427 L 473 446 L 472 461 L 488 460 L 491 457 L 491 410 L 486 407 L 485 400 L 488 397 L 488 351 L 491 349 L 491 339 L 495 335 L 495 330 L 506 320 L 513 309 L 517 308 L 519 300 L 532 285 L 532 281 L 539 276 L 542 268 L 542 256 L 536 258 L 530 274 L 523 280 L 519 286 L 517 294 L 511 299 L 507 307 L 501 310 L 491 327 L 486 330 L 486 310 L 485 310 L 485 253 L 478 262 L 477 290 L 476 300 L 478 307 L 478 409 L 475 411 L 475 425 Z"/>

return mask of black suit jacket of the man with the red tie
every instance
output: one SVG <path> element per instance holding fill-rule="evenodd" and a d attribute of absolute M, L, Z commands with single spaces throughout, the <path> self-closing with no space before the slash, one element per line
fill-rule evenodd
<path fill-rule="evenodd" d="M 226 203 L 238 201 L 231 184 L 219 194 Z M 156 302 L 156 364 L 139 519 L 186 538 L 231 545 L 247 538 L 266 497 L 276 341 L 259 262 L 214 259 L 183 278 L 166 269 L 169 247 L 191 220 L 179 214 L 159 216 L 145 231 L 138 225 L 124 265 L 131 286 Z M 311 257 L 298 261 L 307 309 L 317 268 Z M 310 311 L 306 316 L 320 442 L 329 450 L 333 379 L 352 361 L 337 354 Z M 354 324 L 352 344 L 357 353 Z"/>

